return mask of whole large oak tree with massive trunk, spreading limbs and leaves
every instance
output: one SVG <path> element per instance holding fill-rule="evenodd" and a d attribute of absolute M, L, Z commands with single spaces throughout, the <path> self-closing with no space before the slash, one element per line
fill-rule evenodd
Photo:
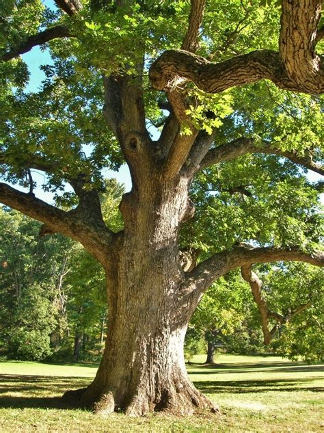
<path fill-rule="evenodd" d="M 221 242 L 202 248 L 196 261 L 199 248 L 180 251 L 189 239 L 179 237 L 180 228 L 194 215 L 189 189 L 211 176 L 204 180 L 213 184 L 207 200 L 226 193 L 246 204 L 252 197 L 262 220 L 265 197 L 257 196 L 256 177 L 274 173 L 261 179 L 271 196 L 275 176 L 292 186 L 293 179 L 304 179 L 300 167 L 323 174 L 317 120 L 324 79 L 316 53 L 322 2 L 283 0 L 280 8 L 237 0 L 55 3 L 57 12 L 38 0 L 1 5 L 0 167 L 6 181 L 23 183 L 29 192 L 1 183 L 0 201 L 40 220 L 42 235 L 59 232 L 79 241 L 105 269 L 105 353 L 94 382 L 68 395 L 104 413 L 217 410 L 189 381 L 183 358 L 187 324 L 204 291 L 237 267 L 274 261 L 321 266 L 324 256 L 314 230 L 307 230 L 313 205 L 299 215 L 305 236 L 295 245 L 273 241 L 272 220 L 267 236 L 265 225 L 251 228 L 224 248 Z M 26 93 L 19 56 L 40 44 L 49 44 L 53 64 L 43 67 L 40 92 Z M 243 85 L 250 87 L 238 91 Z M 152 124 L 161 129 L 157 140 Z M 133 188 L 122 198 L 124 228 L 115 233 L 100 209 L 101 170 L 122 161 Z M 219 184 L 227 165 L 232 180 Z M 38 199 L 33 170 L 46 174 L 47 189 L 69 183 L 74 194 L 65 193 L 60 207 Z M 249 183 L 240 183 L 248 176 Z M 249 228 L 251 221 L 239 226 Z"/>

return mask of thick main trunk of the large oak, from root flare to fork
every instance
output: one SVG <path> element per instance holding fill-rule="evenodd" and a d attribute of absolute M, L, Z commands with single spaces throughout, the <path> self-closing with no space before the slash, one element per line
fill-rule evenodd
<path fill-rule="evenodd" d="M 190 382 L 183 354 L 193 309 L 180 302 L 184 272 L 176 238 L 187 209 L 187 182 L 172 190 L 159 186 L 141 200 L 133 193 L 122 202 L 124 233 L 107 269 L 105 353 L 94 382 L 77 395 L 96 412 L 217 410 Z"/>

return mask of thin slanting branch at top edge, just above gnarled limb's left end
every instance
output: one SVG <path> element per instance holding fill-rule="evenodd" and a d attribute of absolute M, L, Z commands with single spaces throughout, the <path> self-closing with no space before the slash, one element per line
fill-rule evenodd
<path fill-rule="evenodd" d="M 191 0 L 189 26 L 181 49 L 191 51 L 191 53 L 195 53 L 198 49 L 199 29 L 202 25 L 202 19 L 204 18 L 205 4 L 205 0 Z"/>

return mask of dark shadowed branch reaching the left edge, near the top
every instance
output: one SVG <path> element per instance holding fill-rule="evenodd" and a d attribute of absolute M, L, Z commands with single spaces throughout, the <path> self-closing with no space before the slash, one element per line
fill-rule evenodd
<path fill-rule="evenodd" d="M 53 39 L 74 38 L 74 37 L 75 36 L 72 36 L 70 34 L 68 27 L 66 27 L 64 25 L 57 25 L 55 27 L 51 27 L 50 29 L 40 31 L 40 33 L 38 33 L 36 35 L 29 36 L 29 38 L 27 38 L 27 40 L 21 42 L 21 44 L 18 47 L 10 49 L 10 51 L 8 51 L 7 53 L 4 53 L 1 56 L 1 60 L 3 60 L 3 62 L 7 62 L 8 60 L 13 59 L 14 57 L 18 57 L 18 55 L 27 53 L 33 47 L 45 44 L 46 42 L 49 42 L 50 40 L 53 40 Z"/>

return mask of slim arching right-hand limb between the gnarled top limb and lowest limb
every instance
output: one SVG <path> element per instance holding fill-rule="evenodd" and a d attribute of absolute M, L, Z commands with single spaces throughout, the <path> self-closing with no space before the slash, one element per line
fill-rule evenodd
<path fill-rule="evenodd" d="M 323 166 L 320 166 L 318 163 L 312 161 L 312 157 L 310 156 L 300 156 L 293 150 L 288 151 L 273 148 L 271 147 L 271 144 L 266 141 L 256 145 L 254 140 L 246 137 L 240 137 L 237 140 L 233 140 L 227 144 L 221 144 L 221 146 L 217 146 L 216 148 L 209 150 L 200 163 L 200 170 L 216 163 L 230 161 L 230 159 L 240 157 L 246 153 L 267 153 L 280 155 L 290 159 L 300 166 L 308 168 L 308 170 L 312 170 L 316 173 L 324 175 Z"/>

